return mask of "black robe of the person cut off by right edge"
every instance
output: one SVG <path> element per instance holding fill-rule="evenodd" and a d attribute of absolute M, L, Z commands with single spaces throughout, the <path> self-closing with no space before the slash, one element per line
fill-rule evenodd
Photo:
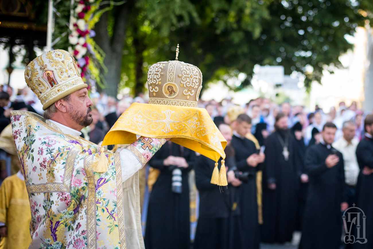
<path fill-rule="evenodd" d="M 360 167 L 360 173 L 356 186 L 356 207 L 361 208 L 366 215 L 365 231 L 367 243 L 354 243 L 353 248 L 371 249 L 373 248 L 373 174 L 366 176 L 362 173 L 362 171 L 365 166 L 373 168 L 373 139 L 364 136 L 364 138 L 357 145 L 356 158 Z M 362 237 L 362 234 L 360 234 L 360 237 Z"/>

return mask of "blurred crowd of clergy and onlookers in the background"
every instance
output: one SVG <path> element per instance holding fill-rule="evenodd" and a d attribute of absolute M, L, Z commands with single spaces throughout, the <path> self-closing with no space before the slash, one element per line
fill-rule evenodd
<path fill-rule="evenodd" d="M 10 124 L 10 110 L 43 114 L 28 88 L 0 88 L 0 132 Z M 90 97 L 93 122 L 81 132 L 95 144 L 132 103 L 147 103 L 144 94 L 120 101 Z M 195 249 L 251 249 L 260 242 L 290 242 L 298 230 L 301 249 L 337 249 L 344 245 L 341 212 L 357 205 L 373 213 L 373 116 L 356 102 L 328 111 L 316 106 L 314 112 L 268 98 L 244 106 L 231 98 L 199 100 L 198 107 L 206 108 L 228 142 L 228 187 L 210 183 L 222 158 L 216 164 L 166 142 L 140 179 L 145 248 L 190 249 L 192 241 Z M 1 150 L 1 180 L 19 170 L 12 156 Z M 195 229 L 192 220 L 198 220 Z M 373 248 L 373 217 L 366 234 L 372 241 L 354 248 Z"/>

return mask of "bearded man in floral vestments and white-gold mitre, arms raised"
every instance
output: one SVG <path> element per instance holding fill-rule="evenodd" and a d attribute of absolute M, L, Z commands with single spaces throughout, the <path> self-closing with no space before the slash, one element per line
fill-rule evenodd
<path fill-rule="evenodd" d="M 53 86 L 46 71 L 53 72 Z M 93 103 L 75 59 L 64 50 L 32 60 L 25 79 L 44 110 L 44 117 L 11 113 L 31 206 L 29 248 L 144 248 L 137 171 L 166 139 L 140 137 L 104 153 L 81 138 Z M 100 160 L 104 170 L 97 170 Z"/>

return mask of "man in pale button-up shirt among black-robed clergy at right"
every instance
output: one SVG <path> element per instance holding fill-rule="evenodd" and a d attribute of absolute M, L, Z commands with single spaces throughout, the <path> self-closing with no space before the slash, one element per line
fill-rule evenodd
<path fill-rule="evenodd" d="M 341 136 L 333 143 L 333 147 L 343 155 L 345 166 L 345 182 L 346 182 L 346 195 L 348 197 L 348 205 L 352 207 L 355 202 L 355 187 L 357 177 L 359 175 L 359 166 L 356 159 L 356 147 L 359 143 L 355 136 L 355 124 L 352 120 L 343 123 Z"/>

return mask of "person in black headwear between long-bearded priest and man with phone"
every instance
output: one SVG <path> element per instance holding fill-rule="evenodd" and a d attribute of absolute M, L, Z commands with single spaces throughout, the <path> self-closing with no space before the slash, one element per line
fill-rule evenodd
<path fill-rule="evenodd" d="M 304 158 L 305 152 L 307 147 L 304 144 L 304 137 L 302 134 L 302 125 L 300 122 L 294 124 L 291 128 L 292 132 L 294 132 L 295 138 L 295 146 L 294 146 L 294 153 L 295 153 L 295 163 L 297 164 L 298 169 L 298 180 L 300 182 L 299 189 L 297 192 L 297 218 L 295 221 L 295 230 L 302 229 L 303 223 L 303 216 L 304 216 L 304 208 L 305 202 L 307 200 L 307 192 L 308 192 L 308 174 L 304 168 Z M 300 174 L 300 175 L 299 175 Z"/>

